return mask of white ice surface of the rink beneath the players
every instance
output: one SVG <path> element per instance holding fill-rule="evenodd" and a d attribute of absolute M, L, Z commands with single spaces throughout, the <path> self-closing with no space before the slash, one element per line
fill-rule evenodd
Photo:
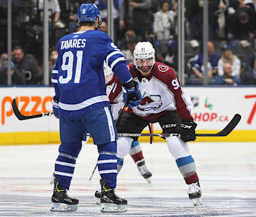
<path fill-rule="evenodd" d="M 142 143 L 152 183 L 143 179 L 130 156 L 118 174 L 117 194 L 128 211 L 102 214 L 95 204 L 99 187 L 97 147 L 83 145 L 69 195 L 79 199 L 73 213 L 51 213 L 50 184 L 58 145 L 0 146 L 0 216 L 254 216 L 256 143 L 190 143 L 202 187 L 203 205 L 194 207 L 187 185 L 165 143 Z"/>

